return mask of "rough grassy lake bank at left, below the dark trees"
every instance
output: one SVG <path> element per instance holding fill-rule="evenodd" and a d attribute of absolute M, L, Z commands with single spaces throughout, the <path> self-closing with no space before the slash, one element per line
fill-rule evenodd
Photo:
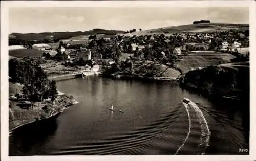
<path fill-rule="evenodd" d="M 77 101 L 69 95 L 59 94 L 54 102 L 35 102 L 30 108 L 22 108 L 22 102 L 9 101 L 9 129 L 14 129 L 37 120 L 44 120 L 63 112 Z"/>

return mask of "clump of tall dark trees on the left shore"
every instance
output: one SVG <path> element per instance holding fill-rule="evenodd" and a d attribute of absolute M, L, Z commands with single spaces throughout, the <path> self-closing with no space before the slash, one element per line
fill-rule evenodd
<path fill-rule="evenodd" d="M 51 96 L 54 101 L 57 95 L 56 82 L 48 79 L 39 64 L 39 61 L 10 59 L 9 77 L 11 77 L 11 82 L 24 85 L 22 89 L 24 99 L 40 102 Z"/>

